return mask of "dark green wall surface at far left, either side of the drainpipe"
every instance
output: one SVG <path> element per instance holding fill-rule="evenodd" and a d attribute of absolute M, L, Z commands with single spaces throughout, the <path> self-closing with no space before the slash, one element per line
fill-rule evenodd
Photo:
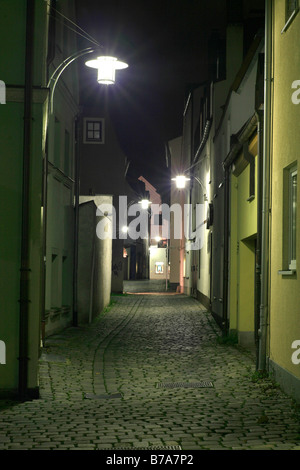
<path fill-rule="evenodd" d="M 0 106 L 0 340 L 6 344 L 6 364 L 0 364 L 1 394 L 17 390 L 19 373 L 26 4 L 25 0 L 1 0 L 0 5 L 0 80 L 7 87 L 6 104 Z M 34 84 L 44 86 L 46 2 L 37 0 L 35 5 Z M 28 388 L 33 390 L 38 387 L 45 97 L 45 93 L 34 93 L 30 155 Z"/>

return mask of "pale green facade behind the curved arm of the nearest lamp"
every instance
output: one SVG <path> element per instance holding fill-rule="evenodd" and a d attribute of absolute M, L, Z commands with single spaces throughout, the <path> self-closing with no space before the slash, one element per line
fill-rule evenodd
<path fill-rule="evenodd" d="M 78 50 L 76 35 L 67 23 L 61 21 L 61 15 L 75 20 L 74 2 L 55 3 L 55 9 L 51 9 L 49 14 L 48 78 Z M 55 89 L 53 81 L 50 81 L 50 89 L 54 93 L 50 94 L 47 131 L 43 339 L 73 323 L 75 134 L 79 113 L 76 61 L 60 75 Z"/>

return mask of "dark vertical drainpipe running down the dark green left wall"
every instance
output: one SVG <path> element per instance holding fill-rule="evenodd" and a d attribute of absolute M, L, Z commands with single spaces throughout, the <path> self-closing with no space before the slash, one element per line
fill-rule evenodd
<path fill-rule="evenodd" d="M 20 268 L 19 398 L 25 401 L 28 387 L 28 306 L 29 306 L 29 192 L 33 86 L 34 0 L 27 0 L 24 90 L 24 140 L 22 188 L 22 239 Z"/>

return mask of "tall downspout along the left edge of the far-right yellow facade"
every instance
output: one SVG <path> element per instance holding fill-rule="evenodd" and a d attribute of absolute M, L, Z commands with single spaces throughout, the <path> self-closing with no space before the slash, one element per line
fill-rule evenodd
<path fill-rule="evenodd" d="M 261 298 L 258 345 L 258 370 L 266 370 L 269 269 L 269 192 L 270 192 L 270 119 L 271 119 L 272 1 L 265 1 L 264 64 L 264 138 L 262 174 Z"/>

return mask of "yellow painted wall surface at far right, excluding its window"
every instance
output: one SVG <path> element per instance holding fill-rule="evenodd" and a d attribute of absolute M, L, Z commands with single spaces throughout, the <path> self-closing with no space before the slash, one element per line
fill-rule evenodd
<path fill-rule="evenodd" d="M 271 220 L 271 293 L 270 293 L 270 358 L 300 378 L 300 365 L 292 363 L 291 344 L 300 340 L 299 274 L 282 276 L 283 266 L 283 170 L 295 161 L 300 165 L 300 104 L 292 103 L 293 81 L 300 80 L 300 13 L 288 29 L 285 24 L 285 2 L 274 4 L 273 32 L 273 133 L 272 133 L 272 220 Z M 299 183 L 298 197 L 299 201 Z M 297 263 L 300 264 L 299 209 L 297 221 Z"/>

